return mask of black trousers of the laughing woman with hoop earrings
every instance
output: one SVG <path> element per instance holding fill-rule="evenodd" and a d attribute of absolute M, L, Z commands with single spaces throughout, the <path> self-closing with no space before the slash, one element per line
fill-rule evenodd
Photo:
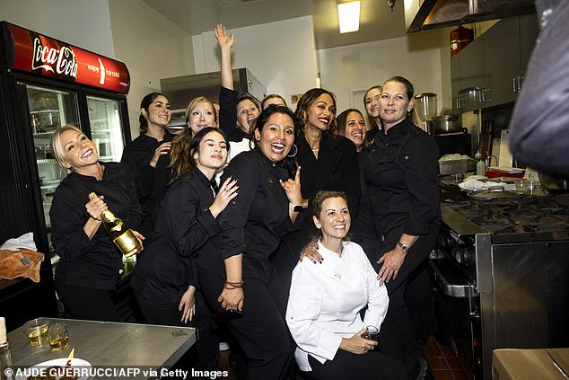
<path fill-rule="evenodd" d="M 224 278 L 214 270 L 199 267 L 202 292 L 215 313 L 222 311 L 217 298 Z M 285 378 L 293 359 L 293 342 L 285 324 L 285 288 L 273 272 L 267 284 L 243 276 L 243 317 L 227 323 L 249 359 L 247 379 Z"/>

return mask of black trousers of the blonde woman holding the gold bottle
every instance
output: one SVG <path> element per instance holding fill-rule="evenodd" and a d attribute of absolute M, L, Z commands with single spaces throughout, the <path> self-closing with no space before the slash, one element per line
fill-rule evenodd
<path fill-rule="evenodd" d="M 119 321 L 111 290 L 75 287 L 66 285 L 58 279 L 54 281 L 54 285 L 57 296 L 66 309 L 64 317 L 91 321 Z"/>

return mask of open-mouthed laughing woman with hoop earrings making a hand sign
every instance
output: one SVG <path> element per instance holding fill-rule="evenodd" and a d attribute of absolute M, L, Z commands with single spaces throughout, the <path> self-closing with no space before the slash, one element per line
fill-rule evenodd
<path fill-rule="evenodd" d="M 270 106 L 259 115 L 255 147 L 223 172 L 239 182 L 239 195 L 220 216 L 221 247 L 198 259 L 207 303 L 227 323 L 249 359 L 248 379 L 282 379 L 293 355 L 285 324 L 286 289 L 268 261 L 301 211 L 300 167 L 294 149 L 293 112 Z"/>

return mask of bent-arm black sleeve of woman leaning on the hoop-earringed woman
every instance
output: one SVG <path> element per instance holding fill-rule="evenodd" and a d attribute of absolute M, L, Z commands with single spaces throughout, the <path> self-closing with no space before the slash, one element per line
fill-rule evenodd
<path fill-rule="evenodd" d="M 187 182 L 179 182 L 162 202 L 165 223 L 180 256 L 188 257 L 221 232 L 209 208 L 200 208 L 199 194 Z"/>

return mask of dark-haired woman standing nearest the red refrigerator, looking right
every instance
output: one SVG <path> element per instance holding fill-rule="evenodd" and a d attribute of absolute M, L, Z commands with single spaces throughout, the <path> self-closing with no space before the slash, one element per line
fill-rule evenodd
<path fill-rule="evenodd" d="M 136 193 L 143 209 L 141 231 L 150 241 L 158 207 L 168 181 L 171 140 L 165 128 L 171 119 L 170 102 L 162 93 L 149 93 L 140 102 L 140 136 L 127 143 L 121 163 L 135 174 Z"/>

